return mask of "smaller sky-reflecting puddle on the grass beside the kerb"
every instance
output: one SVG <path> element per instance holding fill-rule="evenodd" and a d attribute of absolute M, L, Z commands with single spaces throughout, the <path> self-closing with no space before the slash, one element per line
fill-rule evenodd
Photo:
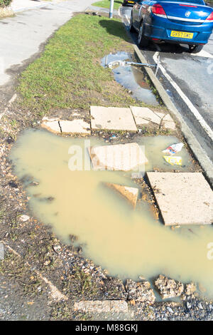
<path fill-rule="evenodd" d="M 102 58 L 102 66 L 106 66 L 111 61 L 132 61 L 129 53 L 110 53 L 107 58 Z M 140 67 L 136 66 L 116 66 L 112 68 L 115 80 L 132 92 L 133 98 L 148 103 L 148 105 L 158 105 L 155 95 L 144 78 Z"/>

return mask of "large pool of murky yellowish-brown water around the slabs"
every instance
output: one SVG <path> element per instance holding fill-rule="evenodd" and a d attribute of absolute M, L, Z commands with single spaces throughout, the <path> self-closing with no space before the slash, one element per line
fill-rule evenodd
<path fill-rule="evenodd" d="M 90 140 L 91 145 L 104 144 L 102 140 Z M 165 165 L 160 151 L 177 143 L 177 139 L 159 136 L 143 138 L 141 142 L 146 144 L 146 155 L 152 160 L 148 170 L 153 165 L 173 170 Z M 152 278 L 161 273 L 183 282 L 195 280 L 213 297 L 213 259 L 207 258 L 207 244 L 213 242 L 212 227 L 171 230 L 154 219 L 143 201 L 133 211 L 125 200 L 103 186 L 103 182 L 116 182 L 138 187 L 129 173 L 71 171 L 71 145 L 82 148 L 84 154 L 84 139 L 61 138 L 45 130 L 26 130 L 13 146 L 11 159 L 16 175 L 28 175 L 39 182 L 36 187 L 26 182 L 35 217 L 52 225 L 64 242 L 70 242 L 69 234 L 77 235 L 79 242 L 85 244 L 84 255 L 111 275 L 137 279 L 138 275 Z M 183 149 L 181 155 L 187 170 L 187 151 Z M 87 150 L 83 163 L 89 166 Z"/>

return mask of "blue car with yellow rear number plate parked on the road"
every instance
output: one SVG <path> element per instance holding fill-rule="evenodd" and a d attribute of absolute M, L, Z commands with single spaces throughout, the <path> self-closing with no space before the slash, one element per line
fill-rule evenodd
<path fill-rule="evenodd" d="M 138 32 L 138 45 L 168 42 L 188 44 L 190 53 L 202 50 L 213 28 L 213 9 L 203 0 L 136 1 L 130 31 Z"/>

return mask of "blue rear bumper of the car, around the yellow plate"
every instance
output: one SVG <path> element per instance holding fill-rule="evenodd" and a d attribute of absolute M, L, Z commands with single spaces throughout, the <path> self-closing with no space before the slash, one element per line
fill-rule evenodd
<path fill-rule="evenodd" d="M 213 23 L 209 24 L 179 24 L 168 19 L 153 16 L 150 23 L 144 27 L 144 35 L 148 38 L 158 38 L 170 43 L 206 44 L 212 33 Z M 192 38 L 171 37 L 171 31 L 193 33 Z"/>

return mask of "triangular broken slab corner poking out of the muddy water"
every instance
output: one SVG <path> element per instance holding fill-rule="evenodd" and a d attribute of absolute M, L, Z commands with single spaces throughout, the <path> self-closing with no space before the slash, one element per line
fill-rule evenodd
<path fill-rule="evenodd" d="M 107 185 L 107 187 L 111 188 L 112 190 L 116 190 L 116 192 L 124 197 L 124 199 L 129 201 L 133 208 L 136 207 L 138 199 L 138 188 L 113 184 L 111 182 L 105 182 L 105 185 Z"/>

